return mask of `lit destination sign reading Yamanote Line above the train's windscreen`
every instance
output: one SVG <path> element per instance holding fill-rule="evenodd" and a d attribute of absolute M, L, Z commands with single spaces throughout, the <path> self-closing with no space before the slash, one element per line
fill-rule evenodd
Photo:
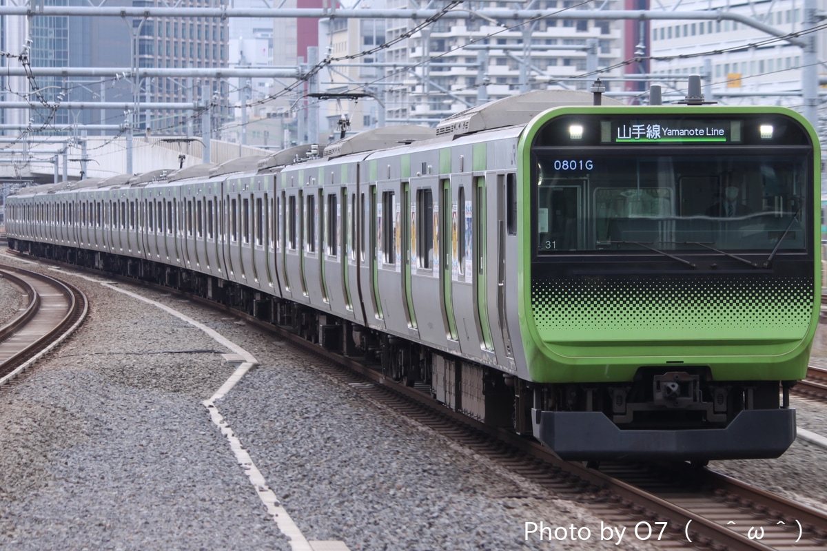
<path fill-rule="evenodd" d="M 740 144 L 742 121 L 652 120 L 600 121 L 600 143 L 635 144 Z"/>

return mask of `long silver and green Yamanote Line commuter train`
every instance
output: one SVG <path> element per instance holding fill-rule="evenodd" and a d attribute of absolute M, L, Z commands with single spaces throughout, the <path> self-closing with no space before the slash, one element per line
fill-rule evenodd
<path fill-rule="evenodd" d="M 9 242 L 239 306 L 562 458 L 777 457 L 819 315 L 815 132 L 603 102 L 24 189 Z"/>

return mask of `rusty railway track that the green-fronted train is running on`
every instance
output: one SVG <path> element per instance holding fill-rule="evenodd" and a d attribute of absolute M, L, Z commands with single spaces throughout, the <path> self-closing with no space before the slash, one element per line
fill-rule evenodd
<path fill-rule="evenodd" d="M 583 544 L 636 539 L 663 549 L 722 551 L 809 551 L 825 549 L 827 544 L 824 511 L 688 464 L 606 463 L 595 470 L 581 463 L 562 461 L 533 439 L 485 425 L 436 404 L 427 388 L 406 387 L 357 359 L 330 354 L 317 344 L 253 316 L 189 293 L 179 294 L 276 333 L 295 344 L 308 366 L 318 372 L 536 482 L 545 496 L 580 502 L 600 519 L 597 525 L 590 526 L 556 526 L 553 519 L 546 519 L 545 525 L 526 523 L 527 538 L 580 540 Z"/>

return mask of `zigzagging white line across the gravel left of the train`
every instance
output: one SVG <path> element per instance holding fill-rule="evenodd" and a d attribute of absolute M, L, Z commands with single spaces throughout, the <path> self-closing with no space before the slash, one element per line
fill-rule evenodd
<path fill-rule="evenodd" d="M 279 530 L 282 534 L 287 536 L 290 540 L 290 547 L 293 551 L 313 551 L 313 547 L 309 544 L 308 540 L 304 537 L 299 527 L 294 523 L 293 519 L 290 518 L 290 515 L 284 509 L 284 507 L 280 506 L 279 498 L 275 496 L 275 492 L 273 492 L 270 487 L 267 486 L 267 482 L 265 481 L 264 475 L 261 474 L 261 471 L 256 468 L 256 464 L 253 463 L 250 454 L 247 453 L 247 450 L 241 446 L 241 441 L 237 439 L 236 435 L 233 434 L 232 429 L 221 414 L 218 412 L 218 407 L 215 405 L 215 401 L 222 399 L 227 392 L 230 392 L 232 387 L 239 381 L 241 378 L 244 377 L 244 374 L 250 370 L 250 368 L 258 365 L 256 359 L 252 356 L 252 354 L 248 353 L 245 349 L 242 349 L 237 344 L 233 343 L 231 340 L 228 340 L 223 335 L 220 335 L 217 331 L 210 329 L 207 325 L 203 325 L 198 321 L 195 321 L 193 318 L 189 316 L 185 316 L 179 311 L 174 311 L 169 306 L 165 306 L 160 302 L 155 302 L 149 298 L 141 297 L 134 292 L 129 292 L 126 289 L 122 289 L 117 287 L 117 285 L 111 285 L 109 283 L 100 282 L 103 287 L 108 287 L 113 291 L 122 292 L 129 297 L 135 298 L 136 300 L 146 302 L 151 304 L 152 306 L 157 306 L 163 311 L 168 312 L 170 315 L 179 318 L 179 320 L 186 321 L 190 325 L 194 325 L 198 329 L 202 330 L 204 333 L 212 337 L 214 340 L 218 341 L 218 343 L 226 346 L 227 349 L 231 349 L 233 353 L 238 354 L 244 359 L 244 362 L 238 366 L 236 371 L 232 373 L 230 378 L 227 379 L 226 382 L 222 385 L 218 391 L 213 394 L 208 400 L 203 401 L 203 405 L 209 411 L 210 417 L 213 419 L 213 423 L 218 426 L 221 430 L 222 435 L 227 438 L 227 441 L 230 443 L 230 448 L 232 449 L 233 453 L 236 454 L 236 459 L 238 464 L 241 465 L 241 468 L 244 469 L 244 472 L 247 475 L 247 478 L 250 479 L 253 487 L 256 488 L 256 493 L 261 499 L 261 502 L 264 503 L 267 512 L 270 516 L 273 517 L 275 520 L 275 524 L 279 527 Z M 347 548 L 345 548 L 347 549 Z"/>

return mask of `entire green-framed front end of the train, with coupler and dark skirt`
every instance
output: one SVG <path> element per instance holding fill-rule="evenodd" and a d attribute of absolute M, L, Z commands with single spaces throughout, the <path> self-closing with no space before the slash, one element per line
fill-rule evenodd
<path fill-rule="evenodd" d="M 563 108 L 520 150 L 534 435 L 568 459 L 782 454 L 820 302 L 806 121 Z"/>

